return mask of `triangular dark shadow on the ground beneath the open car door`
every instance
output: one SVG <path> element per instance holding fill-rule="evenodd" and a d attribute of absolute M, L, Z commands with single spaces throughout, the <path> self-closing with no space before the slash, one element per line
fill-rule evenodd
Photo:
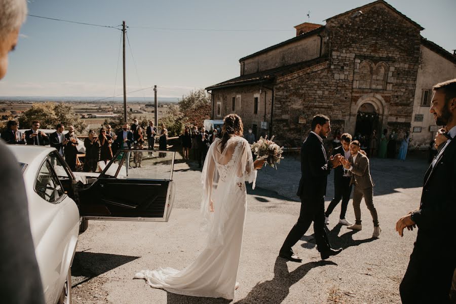
<path fill-rule="evenodd" d="M 76 252 L 71 266 L 72 287 L 89 281 L 105 272 L 129 263 L 139 256 Z"/>

